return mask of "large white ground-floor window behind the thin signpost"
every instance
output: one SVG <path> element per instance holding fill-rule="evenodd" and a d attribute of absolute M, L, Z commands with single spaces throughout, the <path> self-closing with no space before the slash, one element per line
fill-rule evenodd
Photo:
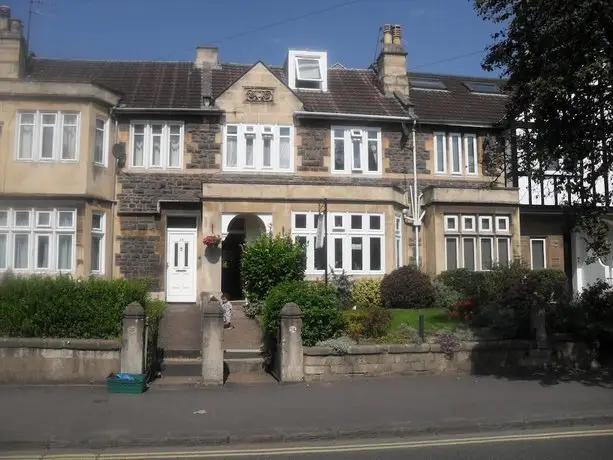
<path fill-rule="evenodd" d="M 307 274 L 323 274 L 325 248 L 316 248 L 318 214 L 294 212 L 292 235 L 306 245 Z M 329 213 L 328 268 L 351 274 L 385 272 L 385 222 L 383 214 Z M 398 259 L 399 260 L 399 259 Z"/>

